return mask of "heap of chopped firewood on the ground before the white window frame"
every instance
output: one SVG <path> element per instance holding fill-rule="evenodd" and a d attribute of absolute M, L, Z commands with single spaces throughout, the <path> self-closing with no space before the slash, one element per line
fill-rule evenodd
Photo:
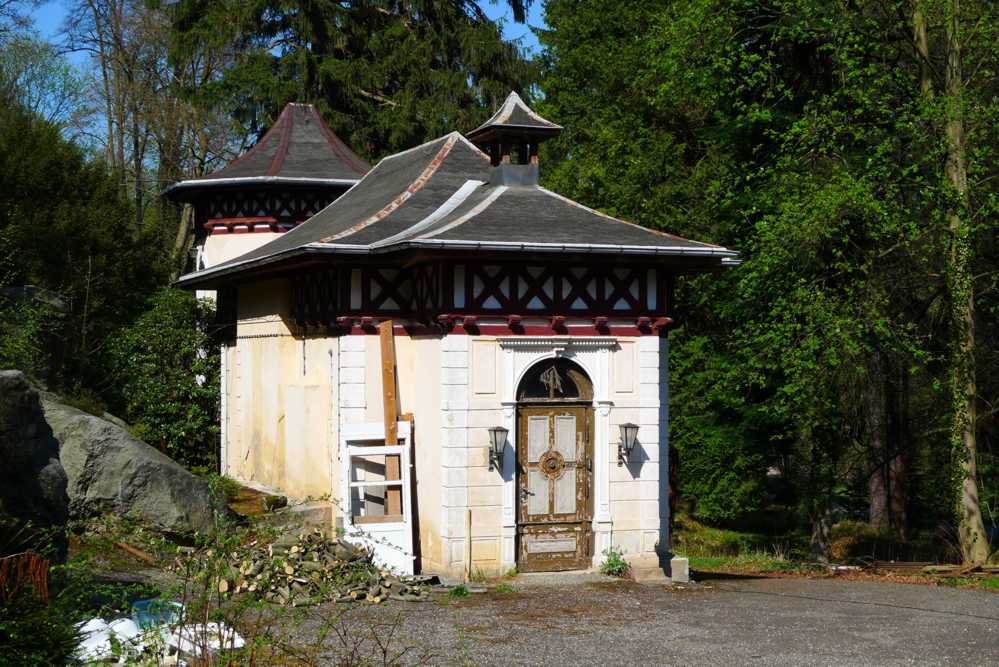
<path fill-rule="evenodd" d="M 251 544 L 229 558 L 217 580 L 221 595 L 254 593 L 280 605 L 320 602 L 426 599 L 425 585 L 397 577 L 372 563 L 371 553 L 322 531 L 285 535 L 267 545 Z"/>

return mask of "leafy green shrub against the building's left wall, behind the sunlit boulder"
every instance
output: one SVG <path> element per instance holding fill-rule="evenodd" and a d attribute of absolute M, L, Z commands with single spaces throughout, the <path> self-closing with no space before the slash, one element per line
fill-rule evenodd
<path fill-rule="evenodd" d="M 219 359 L 210 303 L 164 289 L 122 330 L 110 358 L 134 432 L 186 465 L 216 461 Z"/>

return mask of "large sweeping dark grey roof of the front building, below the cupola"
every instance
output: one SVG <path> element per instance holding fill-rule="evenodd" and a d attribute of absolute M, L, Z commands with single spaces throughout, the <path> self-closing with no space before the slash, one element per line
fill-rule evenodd
<path fill-rule="evenodd" d="M 452 132 L 385 158 L 295 229 L 180 283 L 203 284 L 306 253 L 569 252 L 700 257 L 719 266 L 736 255 L 587 208 L 539 187 L 536 169 L 491 167 L 485 153 Z"/>

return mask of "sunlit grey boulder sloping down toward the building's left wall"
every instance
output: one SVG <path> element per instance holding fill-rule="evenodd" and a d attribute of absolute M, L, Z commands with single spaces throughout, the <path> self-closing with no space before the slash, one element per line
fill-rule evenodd
<path fill-rule="evenodd" d="M 45 418 L 59 441 L 73 516 L 106 512 L 170 533 L 207 532 L 224 501 L 208 483 L 127 429 L 42 396 Z"/>

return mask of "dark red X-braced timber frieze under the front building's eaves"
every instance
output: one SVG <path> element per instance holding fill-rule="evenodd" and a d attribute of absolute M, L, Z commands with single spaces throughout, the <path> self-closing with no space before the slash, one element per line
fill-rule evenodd
<path fill-rule="evenodd" d="M 672 312 L 673 277 L 661 267 L 428 262 L 347 266 L 292 281 L 295 320 L 332 325 L 342 317 L 408 317 L 445 327 L 503 316 L 511 327 L 543 318 L 554 328 L 586 318 L 654 326 Z"/>

